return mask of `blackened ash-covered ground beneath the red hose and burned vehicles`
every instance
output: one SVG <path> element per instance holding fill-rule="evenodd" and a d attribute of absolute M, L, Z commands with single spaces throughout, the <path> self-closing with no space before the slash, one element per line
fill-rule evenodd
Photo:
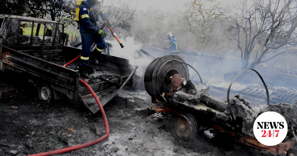
<path fill-rule="evenodd" d="M 61 155 L 274 155 L 235 143 L 229 135 L 201 125 L 191 141 L 180 141 L 171 133 L 174 114 L 156 114 L 150 109 L 153 106 L 150 101 L 151 97 L 145 91 L 121 91 L 104 106 L 109 138 Z M 0 75 L 1 156 L 23 156 L 65 148 L 104 134 L 100 112 L 91 114 L 83 105 L 75 107 L 65 98 L 51 103 L 39 100 L 37 89 L 22 75 L 5 74 L 5 78 Z"/>

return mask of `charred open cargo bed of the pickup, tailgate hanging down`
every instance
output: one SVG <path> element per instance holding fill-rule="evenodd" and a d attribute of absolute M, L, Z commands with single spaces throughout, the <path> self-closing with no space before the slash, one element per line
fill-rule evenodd
<path fill-rule="evenodd" d="M 63 67 L 64 63 L 78 56 L 81 49 L 63 46 L 59 53 L 53 54 L 50 50 L 53 47 L 50 46 L 48 47 L 48 51 L 45 49 L 29 50 L 32 48 L 36 49 L 36 47 L 21 48 L 16 46 L 10 48 L 3 46 L 3 59 L 1 61 L 4 63 L 4 68 L 16 72 L 25 71 L 34 75 L 31 81 L 37 83 L 35 86 L 46 84 L 52 90 L 54 99 L 66 96 L 75 105 L 80 100 L 93 113 L 99 111 L 99 107 L 91 92 L 85 86 L 78 83 L 78 78 L 85 79 L 80 77 L 76 69 L 78 61 L 73 62 L 67 67 Z M 45 61 L 45 58 L 54 59 Z M 135 73 L 137 67 L 131 67 L 129 60 L 115 56 L 98 54 L 97 59 L 100 62 L 99 64 L 90 65 L 94 72 L 90 74 L 88 83 L 97 94 L 102 105 L 105 105 L 122 88 L 132 83 L 132 75 Z M 105 79 L 102 79 L 102 76 Z M 108 78 L 117 78 L 119 81 L 112 83 L 109 82 Z"/>

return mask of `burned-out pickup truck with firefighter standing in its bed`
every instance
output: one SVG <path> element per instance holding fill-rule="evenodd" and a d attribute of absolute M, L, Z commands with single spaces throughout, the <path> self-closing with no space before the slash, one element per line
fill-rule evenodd
<path fill-rule="evenodd" d="M 0 73 L 6 70 L 30 75 L 28 81 L 37 87 L 41 100 L 68 98 L 73 104 L 79 101 L 92 113 L 99 110 L 91 92 L 79 83 L 77 63 L 63 65 L 76 58 L 81 49 L 65 46 L 64 24 L 45 19 L 0 15 Z M 94 70 L 88 83 L 102 106 L 119 91 L 132 84 L 137 66 L 129 60 L 96 54 L 99 64 L 90 65 Z M 86 80 L 87 81 L 87 80 Z"/>

